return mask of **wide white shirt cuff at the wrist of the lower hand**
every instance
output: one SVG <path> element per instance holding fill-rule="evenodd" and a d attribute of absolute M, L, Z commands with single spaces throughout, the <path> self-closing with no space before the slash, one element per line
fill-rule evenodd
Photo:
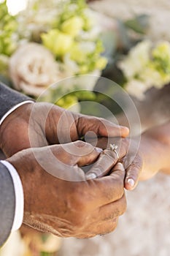
<path fill-rule="evenodd" d="M 23 223 L 23 186 L 20 181 L 20 176 L 17 170 L 9 162 L 2 160 L 1 163 L 7 167 L 10 175 L 12 176 L 12 181 L 15 189 L 15 216 L 12 225 L 12 231 L 18 230 Z"/>

